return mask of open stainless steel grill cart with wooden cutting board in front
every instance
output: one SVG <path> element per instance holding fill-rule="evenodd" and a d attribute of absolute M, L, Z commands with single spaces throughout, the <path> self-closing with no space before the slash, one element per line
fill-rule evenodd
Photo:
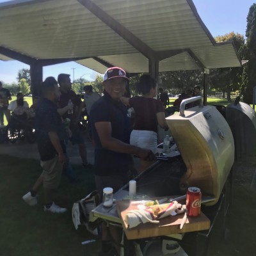
<path fill-rule="evenodd" d="M 132 255 L 129 248 L 135 241 L 140 244 L 143 256 L 205 256 L 211 228 L 218 214 L 222 215 L 223 230 L 225 228 L 225 214 L 231 198 L 234 139 L 230 126 L 216 107 L 196 106 L 185 110 L 186 104 L 193 100 L 198 100 L 198 97 L 183 100 L 180 113 L 166 118 L 174 139 L 170 154 L 159 157 L 135 180 L 137 195 L 149 198 L 172 198 L 186 195 L 191 186 L 200 188 L 202 214 L 198 219 L 188 219 L 181 230 L 172 225 L 172 221 L 159 227 L 146 223 L 129 230 L 122 220 L 125 209 L 131 207 L 129 201 L 122 201 L 129 193 L 129 184 L 126 184 L 115 193 L 118 202 L 113 207 L 108 209 L 100 204 L 90 215 L 91 221 L 100 218 L 110 225 L 122 225 L 125 232 L 124 255 Z M 184 201 L 180 203 L 185 204 Z M 153 231 L 152 225 L 155 225 Z"/>

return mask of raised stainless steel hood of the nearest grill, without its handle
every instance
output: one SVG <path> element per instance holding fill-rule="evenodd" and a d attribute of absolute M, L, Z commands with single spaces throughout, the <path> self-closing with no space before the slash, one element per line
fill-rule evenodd
<path fill-rule="evenodd" d="M 234 140 L 230 127 L 212 106 L 189 108 L 184 116 L 175 113 L 166 118 L 187 171 L 180 179 L 184 193 L 191 186 L 218 202 L 234 163 Z"/>

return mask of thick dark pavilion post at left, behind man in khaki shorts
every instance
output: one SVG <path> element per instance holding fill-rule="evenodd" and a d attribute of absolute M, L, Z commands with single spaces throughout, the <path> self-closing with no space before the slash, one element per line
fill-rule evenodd
<path fill-rule="evenodd" d="M 43 66 L 40 61 L 33 61 L 30 64 L 31 92 L 33 97 L 40 93 L 40 84 L 43 81 Z"/>

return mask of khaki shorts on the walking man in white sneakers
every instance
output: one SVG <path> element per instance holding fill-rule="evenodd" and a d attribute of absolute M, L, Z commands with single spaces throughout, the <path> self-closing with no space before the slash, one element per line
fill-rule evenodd
<path fill-rule="evenodd" d="M 41 167 L 43 169 L 44 188 L 58 188 L 63 170 L 63 165 L 60 163 L 58 156 L 48 161 L 41 161 Z"/>

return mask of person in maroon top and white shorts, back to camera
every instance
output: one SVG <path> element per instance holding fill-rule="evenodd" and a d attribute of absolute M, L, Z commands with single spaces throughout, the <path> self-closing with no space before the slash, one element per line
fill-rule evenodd
<path fill-rule="evenodd" d="M 163 104 L 154 99 L 157 95 L 157 83 L 153 77 L 143 75 L 136 84 L 137 91 L 141 96 L 132 98 L 122 97 L 122 102 L 134 108 L 134 127 L 131 132 L 130 143 L 137 147 L 148 148 L 156 154 L 157 152 L 157 125 L 168 129 L 165 121 Z M 148 161 L 140 160 L 140 171 L 147 169 Z"/>

